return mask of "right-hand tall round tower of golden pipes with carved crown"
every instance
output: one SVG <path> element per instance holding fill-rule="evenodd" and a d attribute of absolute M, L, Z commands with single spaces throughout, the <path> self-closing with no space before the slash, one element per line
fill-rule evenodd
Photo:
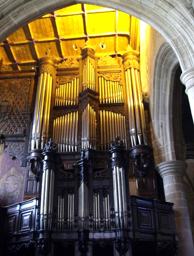
<path fill-rule="evenodd" d="M 131 50 L 123 54 L 122 58 L 125 69 L 131 143 L 132 146 L 137 144 L 147 145 L 146 123 L 139 74 L 139 53 Z"/>

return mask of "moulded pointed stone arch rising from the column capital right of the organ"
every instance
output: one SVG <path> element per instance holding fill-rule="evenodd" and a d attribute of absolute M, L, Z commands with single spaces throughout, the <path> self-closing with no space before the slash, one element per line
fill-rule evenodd
<path fill-rule="evenodd" d="M 153 83 L 152 125 L 156 164 L 184 159 L 181 123 L 177 125 L 176 131 L 173 129 L 173 101 L 176 100 L 173 99 L 173 85 L 178 67 L 178 58 L 172 47 L 163 43 L 156 56 Z"/>

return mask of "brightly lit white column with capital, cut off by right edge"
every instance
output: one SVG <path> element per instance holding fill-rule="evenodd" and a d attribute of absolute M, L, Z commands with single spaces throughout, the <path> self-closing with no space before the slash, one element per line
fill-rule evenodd
<path fill-rule="evenodd" d="M 190 109 L 194 122 L 194 68 L 181 74 L 181 82 L 186 86 L 186 94 L 189 98 Z"/>

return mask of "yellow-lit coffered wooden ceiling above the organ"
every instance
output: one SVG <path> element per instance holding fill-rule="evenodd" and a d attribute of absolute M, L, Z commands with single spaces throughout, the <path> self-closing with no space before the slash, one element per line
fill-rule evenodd
<path fill-rule="evenodd" d="M 76 4 L 15 31 L 0 44 L 0 58 L 8 70 L 30 70 L 49 48 L 52 55 L 66 59 L 80 55 L 88 39 L 99 55 L 119 55 L 128 44 L 139 50 L 139 20 L 114 9 Z"/>

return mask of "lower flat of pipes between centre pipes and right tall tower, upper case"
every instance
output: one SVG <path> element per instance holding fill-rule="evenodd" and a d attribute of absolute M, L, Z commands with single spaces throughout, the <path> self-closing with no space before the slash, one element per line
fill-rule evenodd
<path fill-rule="evenodd" d="M 121 113 L 100 110 L 100 147 L 109 150 L 111 141 L 119 136 L 127 148 L 125 116 Z"/>

